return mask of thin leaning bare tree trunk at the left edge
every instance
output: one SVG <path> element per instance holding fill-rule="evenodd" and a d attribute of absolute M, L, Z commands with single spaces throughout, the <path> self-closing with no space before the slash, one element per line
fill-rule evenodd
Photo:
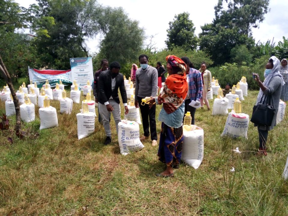
<path fill-rule="evenodd" d="M 2 74 L 3 78 L 5 79 L 5 81 L 7 82 L 8 86 L 9 86 L 9 89 L 11 91 L 11 95 L 12 95 L 12 98 L 13 98 L 13 102 L 14 102 L 14 106 L 15 106 L 15 110 L 16 110 L 15 132 L 17 134 L 21 130 L 21 116 L 20 116 L 19 100 L 16 97 L 16 92 L 14 90 L 14 87 L 13 87 L 13 84 L 12 84 L 12 81 L 11 81 L 11 76 L 8 73 L 8 71 L 7 71 L 5 65 L 4 65 L 4 63 L 2 61 L 1 55 L 0 55 L 0 71 L 1 71 L 1 74 Z"/>

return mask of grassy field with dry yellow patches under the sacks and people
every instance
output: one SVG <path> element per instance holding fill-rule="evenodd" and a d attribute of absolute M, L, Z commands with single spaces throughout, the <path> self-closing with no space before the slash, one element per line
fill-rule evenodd
<path fill-rule="evenodd" d="M 257 93 L 249 91 L 242 102 L 249 116 Z M 268 156 L 259 158 L 251 122 L 247 140 L 221 138 L 227 116 L 197 110 L 195 124 L 205 136 L 203 162 L 197 170 L 181 164 L 174 178 L 164 179 L 155 176 L 165 165 L 150 141 L 140 152 L 121 155 L 114 120 L 111 145 L 102 144 L 98 121 L 94 134 L 78 140 L 80 104 L 73 104 L 71 115 L 59 113 L 58 101 L 51 105 L 58 128 L 39 131 L 36 106 L 37 119 L 23 123 L 28 132 L 23 140 L 0 131 L 0 215 L 288 215 L 288 183 L 281 178 L 288 155 L 287 111 L 269 133 Z M 0 110 L 5 112 L 3 102 Z M 13 128 L 15 116 L 10 119 Z M 232 153 L 236 147 L 242 154 Z"/>

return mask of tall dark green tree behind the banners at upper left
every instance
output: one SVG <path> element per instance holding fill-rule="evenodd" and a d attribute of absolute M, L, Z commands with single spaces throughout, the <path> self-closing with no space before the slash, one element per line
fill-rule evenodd
<path fill-rule="evenodd" d="M 34 46 L 41 58 L 41 67 L 66 70 L 70 58 L 88 57 L 88 38 L 99 33 L 101 8 L 97 0 L 38 0 L 39 17 L 53 17 L 55 25 L 42 24 L 48 37 L 40 35 Z"/>

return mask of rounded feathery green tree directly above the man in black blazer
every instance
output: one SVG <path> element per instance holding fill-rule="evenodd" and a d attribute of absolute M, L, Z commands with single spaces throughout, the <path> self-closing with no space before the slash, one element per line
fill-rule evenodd
<path fill-rule="evenodd" d="M 107 58 L 109 62 L 118 61 L 122 65 L 138 61 L 145 38 L 139 22 L 129 19 L 122 7 L 107 7 L 102 12 L 99 24 L 104 39 L 100 44 L 98 59 Z"/>

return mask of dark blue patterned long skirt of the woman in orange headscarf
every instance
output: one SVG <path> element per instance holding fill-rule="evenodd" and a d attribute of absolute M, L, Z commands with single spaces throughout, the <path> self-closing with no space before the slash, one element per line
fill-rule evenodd
<path fill-rule="evenodd" d="M 158 149 L 159 161 L 172 167 L 180 163 L 183 146 L 183 129 L 171 128 L 162 122 Z"/>

